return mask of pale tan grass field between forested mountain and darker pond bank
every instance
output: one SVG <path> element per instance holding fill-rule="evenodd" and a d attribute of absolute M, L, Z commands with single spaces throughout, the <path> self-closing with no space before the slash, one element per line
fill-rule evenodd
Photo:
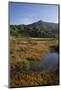
<path fill-rule="evenodd" d="M 12 39 L 10 40 L 11 57 L 17 60 L 26 60 L 27 57 L 35 60 L 42 60 L 45 54 L 49 51 L 49 45 L 56 44 L 55 39 Z"/>

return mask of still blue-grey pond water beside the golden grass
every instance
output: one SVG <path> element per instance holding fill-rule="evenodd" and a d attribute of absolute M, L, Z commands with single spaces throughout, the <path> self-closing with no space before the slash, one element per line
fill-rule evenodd
<path fill-rule="evenodd" d="M 58 69 L 58 53 L 48 53 L 41 61 L 36 61 L 31 65 L 32 71 L 53 71 Z"/>

